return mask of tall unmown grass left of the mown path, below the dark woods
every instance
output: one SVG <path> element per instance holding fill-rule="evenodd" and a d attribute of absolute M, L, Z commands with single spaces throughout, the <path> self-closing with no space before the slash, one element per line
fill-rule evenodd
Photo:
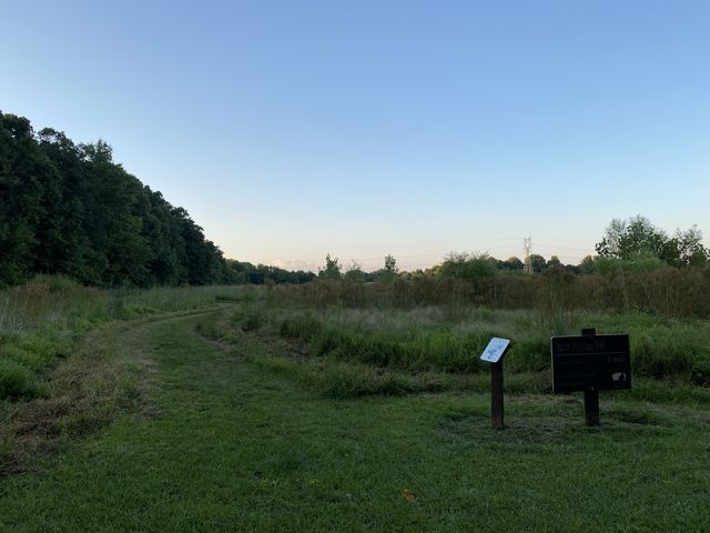
<path fill-rule="evenodd" d="M 0 399 L 44 395 L 44 370 L 71 352 L 81 331 L 110 320 L 236 301 L 248 292 L 235 286 L 100 290 L 57 275 L 0 291 Z"/>

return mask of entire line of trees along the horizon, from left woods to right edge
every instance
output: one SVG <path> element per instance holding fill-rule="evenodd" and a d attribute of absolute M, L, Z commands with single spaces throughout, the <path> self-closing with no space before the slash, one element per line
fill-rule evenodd
<path fill-rule="evenodd" d="M 598 255 L 562 264 L 531 254 L 532 273 L 652 272 L 704 266 L 710 250 L 697 227 L 673 234 L 640 215 L 615 219 L 596 245 Z M 317 278 L 384 282 L 420 278 L 460 279 L 478 285 L 498 274 L 523 275 L 524 262 L 486 253 L 453 252 L 440 264 L 402 272 L 396 259 L 365 272 L 357 262 L 343 269 L 325 257 Z M 316 274 L 225 260 L 182 208 L 171 205 L 129 174 L 103 141 L 75 144 L 64 133 L 0 112 L 0 286 L 36 274 L 64 274 L 98 286 L 303 284 Z"/>

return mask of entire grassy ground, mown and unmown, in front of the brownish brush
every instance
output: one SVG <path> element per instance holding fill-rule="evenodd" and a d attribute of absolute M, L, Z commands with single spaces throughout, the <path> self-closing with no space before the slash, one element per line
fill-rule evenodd
<path fill-rule="evenodd" d="M 707 529 L 708 321 L 400 289 L 3 292 L 0 530 Z M 551 393 L 549 336 L 582 326 L 631 335 L 598 428 Z"/>

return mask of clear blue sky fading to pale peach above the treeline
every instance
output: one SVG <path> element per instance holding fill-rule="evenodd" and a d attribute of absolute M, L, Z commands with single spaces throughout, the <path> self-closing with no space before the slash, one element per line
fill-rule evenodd
<path fill-rule="evenodd" d="M 578 263 L 710 241 L 710 2 L 0 0 L 0 110 L 114 160 L 225 257 Z"/>

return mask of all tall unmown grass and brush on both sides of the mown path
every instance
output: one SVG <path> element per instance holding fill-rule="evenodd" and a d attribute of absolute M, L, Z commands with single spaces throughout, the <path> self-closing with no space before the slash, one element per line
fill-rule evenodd
<path fill-rule="evenodd" d="M 268 331 L 300 343 L 310 356 L 381 369 L 379 376 L 387 369 L 475 374 L 490 336 L 514 340 L 508 370 L 547 372 L 550 335 L 596 326 L 631 334 L 640 375 L 710 384 L 710 329 L 692 319 L 710 314 L 710 269 L 604 276 L 552 269 L 477 286 L 422 278 L 109 291 L 38 276 L 0 291 L 0 398 L 43 394 L 42 372 L 70 352 L 77 332 L 219 301 L 240 303 L 234 321 L 244 331 Z"/>

